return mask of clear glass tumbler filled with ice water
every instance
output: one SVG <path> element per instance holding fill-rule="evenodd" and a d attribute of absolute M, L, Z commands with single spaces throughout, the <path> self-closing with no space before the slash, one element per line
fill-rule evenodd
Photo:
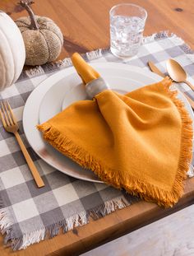
<path fill-rule="evenodd" d="M 135 4 L 118 4 L 110 14 L 110 49 L 119 58 L 136 55 L 141 45 L 147 12 Z"/>

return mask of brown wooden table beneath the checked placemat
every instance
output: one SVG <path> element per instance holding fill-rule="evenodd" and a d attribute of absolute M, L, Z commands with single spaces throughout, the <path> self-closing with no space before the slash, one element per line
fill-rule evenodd
<path fill-rule="evenodd" d="M 26 16 L 16 5 L 18 0 L 2 0 L 0 9 L 13 19 Z M 48 16 L 61 28 L 64 48 L 60 58 L 77 51 L 109 47 L 109 9 L 129 0 L 39 0 L 33 9 L 37 15 Z M 145 35 L 159 30 L 169 30 L 182 37 L 194 49 L 193 0 L 133 0 L 148 12 Z M 188 179 L 185 193 L 178 204 L 170 209 L 159 208 L 153 203 L 138 202 L 131 207 L 113 212 L 98 221 L 75 228 L 52 240 L 33 244 L 28 249 L 12 253 L 3 247 L 0 236 L 0 255 L 78 255 L 109 240 L 145 226 L 163 216 L 187 207 L 194 200 L 194 178 Z"/>

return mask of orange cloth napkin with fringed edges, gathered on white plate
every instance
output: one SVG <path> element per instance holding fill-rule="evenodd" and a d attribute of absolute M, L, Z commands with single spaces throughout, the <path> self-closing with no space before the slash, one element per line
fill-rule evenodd
<path fill-rule="evenodd" d="M 79 54 L 72 63 L 86 86 L 99 78 Z M 172 207 L 192 158 L 192 120 L 170 85 L 166 77 L 126 95 L 104 90 L 38 128 L 53 147 L 105 183 Z"/>

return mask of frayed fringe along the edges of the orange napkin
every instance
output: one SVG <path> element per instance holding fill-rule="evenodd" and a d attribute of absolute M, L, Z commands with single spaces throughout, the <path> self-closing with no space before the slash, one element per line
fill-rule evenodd
<path fill-rule="evenodd" d="M 178 161 L 178 172 L 174 180 L 172 191 L 161 190 L 153 184 L 145 184 L 143 180 L 136 179 L 132 175 L 122 177 L 118 175 L 118 172 L 110 170 L 108 166 L 100 164 L 90 152 L 85 151 L 83 148 L 76 145 L 68 137 L 64 137 L 57 128 L 49 125 L 49 121 L 37 126 L 37 128 L 43 133 L 44 139 L 53 147 L 61 151 L 62 154 L 76 161 L 85 169 L 90 169 L 95 172 L 106 184 L 111 184 L 115 188 L 119 188 L 118 184 L 121 184 L 122 189 L 125 189 L 132 195 L 139 196 L 148 202 L 156 202 L 159 206 L 173 207 L 174 203 L 178 202 L 178 199 L 182 195 L 183 180 L 187 178 L 187 171 L 190 167 L 192 159 L 192 119 L 190 118 L 187 110 L 185 109 L 182 100 L 177 98 L 178 91 L 171 91 L 170 86 L 172 81 L 169 77 L 164 78 L 161 82 L 164 91 L 169 98 L 176 105 L 178 112 L 182 119 L 182 138 L 180 159 Z M 113 174 L 110 176 L 110 173 Z M 127 184 L 126 184 L 127 180 Z"/>

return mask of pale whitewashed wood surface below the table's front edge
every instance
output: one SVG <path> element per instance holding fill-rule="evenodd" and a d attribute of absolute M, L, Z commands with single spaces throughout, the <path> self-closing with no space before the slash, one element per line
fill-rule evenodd
<path fill-rule="evenodd" d="M 192 256 L 194 205 L 81 256 Z"/>

